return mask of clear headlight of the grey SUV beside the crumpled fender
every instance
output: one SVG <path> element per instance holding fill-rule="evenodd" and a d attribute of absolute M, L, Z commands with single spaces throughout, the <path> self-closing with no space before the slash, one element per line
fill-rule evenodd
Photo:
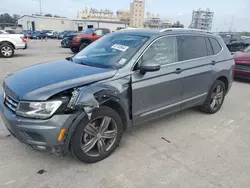
<path fill-rule="evenodd" d="M 21 101 L 16 114 L 23 117 L 47 119 L 61 106 L 62 101 L 26 102 Z"/>

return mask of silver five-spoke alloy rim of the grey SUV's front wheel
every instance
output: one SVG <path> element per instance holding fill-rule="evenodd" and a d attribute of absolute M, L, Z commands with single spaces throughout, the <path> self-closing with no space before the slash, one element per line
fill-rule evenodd
<path fill-rule="evenodd" d="M 103 156 L 114 145 L 118 133 L 116 122 L 108 117 L 92 120 L 81 136 L 81 149 L 91 157 Z"/>

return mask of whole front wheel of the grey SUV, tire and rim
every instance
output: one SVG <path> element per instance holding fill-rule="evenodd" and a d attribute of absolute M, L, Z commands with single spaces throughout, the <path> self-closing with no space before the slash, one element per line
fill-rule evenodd
<path fill-rule="evenodd" d="M 95 163 L 107 158 L 119 145 L 123 123 L 111 108 L 100 107 L 85 117 L 71 138 L 71 152 L 82 162 Z"/>

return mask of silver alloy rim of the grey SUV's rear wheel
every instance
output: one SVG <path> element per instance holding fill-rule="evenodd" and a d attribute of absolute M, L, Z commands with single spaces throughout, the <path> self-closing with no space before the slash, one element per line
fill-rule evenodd
<path fill-rule="evenodd" d="M 224 90 L 221 85 L 217 85 L 217 87 L 213 90 L 211 95 L 210 107 L 213 110 L 220 108 L 224 97 Z"/>

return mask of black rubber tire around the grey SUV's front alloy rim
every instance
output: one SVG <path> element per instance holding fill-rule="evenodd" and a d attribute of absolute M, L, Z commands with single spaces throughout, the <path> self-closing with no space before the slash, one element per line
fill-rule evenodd
<path fill-rule="evenodd" d="M 89 154 L 85 153 L 82 149 L 83 137 L 84 137 L 84 135 L 88 134 L 85 132 L 85 128 L 87 127 L 87 125 L 89 125 L 90 122 L 92 122 L 95 119 L 98 119 L 100 117 L 109 117 L 112 119 L 112 121 L 114 121 L 116 123 L 116 125 L 117 125 L 116 126 L 116 128 L 117 128 L 116 138 L 113 140 L 112 145 L 109 145 L 110 143 L 105 145 L 105 146 L 109 146 L 108 151 L 106 151 L 106 149 L 105 149 L 105 150 L 103 150 L 102 155 L 90 156 Z M 94 124 L 94 125 L 96 125 L 96 124 Z M 98 130 L 99 130 L 99 128 L 98 128 Z M 81 122 L 79 123 L 79 125 L 77 126 L 77 128 L 75 129 L 75 131 L 71 137 L 71 142 L 70 142 L 71 152 L 78 160 L 85 162 L 85 163 L 95 163 L 95 162 L 101 161 L 101 160 L 107 158 L 118 147 L 120 140 L 121 140 L 121 137 L 122 137 L 122 133 L 123 133 L 123 123 L 122 123 L 122 120 L 121 120 L 121 117 L 119 116 L 119 114 L 111 108 L 100 107 L 92 112 L 91 120 L 89 120 L 87 117 L 83 118 L 81 120 Z M 98 136 L 96 135 L 95 138 L 98 138 Z M 99 141 L 100 140 L 102 140 L 102 138 L 99 138 Z M 99 142 L 99 141 L 97 141 L 97 142 Z M 89 141 L 87 141 L 87 143 L 88 142 Z M 100 142 L 105 143 L 103 140 Z M 86 144 L 86 143 L 84 143 L 84 144 Z M 98 143 L 96 143 L 96 144 L 98 144 Z M 94 144 L 94 145 L 96 145 L 96 144 Z M 98 149 L 97 149 L 98 146 L 95 146 L 95 147 L 96 147 L 96 150 L 98 153 Z M 93 147 L 93 149 L 95 149 L 95 147 Z"/>

